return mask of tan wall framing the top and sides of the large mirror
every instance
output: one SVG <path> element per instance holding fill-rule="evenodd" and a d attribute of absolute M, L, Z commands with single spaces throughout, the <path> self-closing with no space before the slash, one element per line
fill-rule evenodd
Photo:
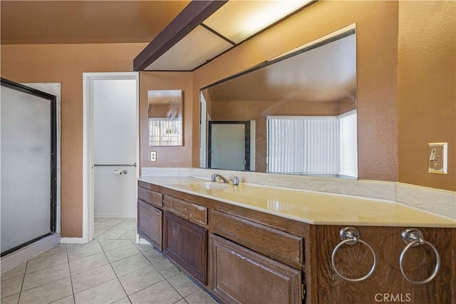
<path fill-rule="evenodd" d="M 312 4 L 195 71 L 194 107 L 199 106 L 199 88 L 353 23 L 357 39 L 358 176 L 397 181 L 397 1 Z M 193 138 L 198 138 L 199 111 L 192 115 Z M 199 166 L 198 150 L 195 144 L 195 167 Z"/>

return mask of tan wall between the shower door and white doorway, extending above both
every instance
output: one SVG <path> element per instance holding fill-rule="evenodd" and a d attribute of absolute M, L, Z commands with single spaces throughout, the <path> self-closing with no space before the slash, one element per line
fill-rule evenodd
<path fill-rule="evenodd" d="M 82 236 L 83 72 L 132 71 L 145 44 L 1 46 L 1 77 L 61 86 L 61 234 Z"/>

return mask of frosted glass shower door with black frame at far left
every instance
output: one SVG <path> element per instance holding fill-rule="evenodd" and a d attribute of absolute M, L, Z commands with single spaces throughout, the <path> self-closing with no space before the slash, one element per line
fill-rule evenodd
<path fill-rule="evenodd" d="M 1 78 L 1 256 L 56 231 L 56 96 Z"/>

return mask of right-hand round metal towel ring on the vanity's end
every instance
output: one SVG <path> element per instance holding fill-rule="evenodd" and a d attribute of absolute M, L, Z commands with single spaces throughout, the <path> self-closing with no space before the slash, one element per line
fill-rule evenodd
<path fill-rule="evenodd" d="M 439 255 L 439 252 L 437 251 L 437 248 L 435 248 L 435 245 L 432 245 L 427 240 L 424 240 L 423 233 L 416 228 L 408 228 L 408 229 L 403 230 L 403 232 L 401 233 L 401 236 L 402 236 L 402 240 L 407 245 L 400 253 L 400 257 L 399 257 L 400 272 L 404 276 L 405 280 L 408 280 L 412 284 L 423 285 L 423 284 L 429 283 L 433 278 L 435 278 L 435 275 L 437 275 L 437 273 L 439 272 L 439 269 L 440 269 L 440 255 Z M 432 248 L 432 250 L 434 250 L 435 258 L 437 259 L 435 262 L 435 268 L 434 268 L 434 272 L 432 273 L 432 275 L 430 275 L 430 277 L 427 278 L 426 280 L 421 280 L 421 281 L 410 280 L 410 278 L 408 278 L 408 276 L 405 275 L 405 271 L 403 268 L 403 260 L 404 260 L 405 253 L 407 252 L 407 250 L 410 247 L 415 247 L 418 245 L 428 245 L 430 248 Z"/>

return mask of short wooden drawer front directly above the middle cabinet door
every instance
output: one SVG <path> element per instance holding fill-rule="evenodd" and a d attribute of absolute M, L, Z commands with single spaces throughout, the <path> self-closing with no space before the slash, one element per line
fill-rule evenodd
<path fill-rule="evenodd" d="M 165 196 L 163 206 L 168 211 L 177 214 L 178 216 L 185 218 L 193 223 L 199 223 L 207 225 L 207 208 L 199 206 L 195 203 L 182 201 L 179 198 L 173 198 L 172 196 Z"/>

